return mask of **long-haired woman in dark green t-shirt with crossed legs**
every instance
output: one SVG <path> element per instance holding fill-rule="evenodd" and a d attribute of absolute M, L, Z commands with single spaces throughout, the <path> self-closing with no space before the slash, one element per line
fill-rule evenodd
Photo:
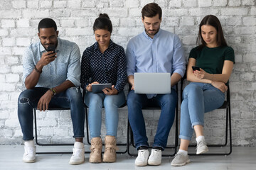
<path fill-rule="evenodd" d="M 208 152 L 203 136 L 203 115 L 223 105 L 228 79 L 235 62 L 234 50 L 228 47 L 220 21 L 216 16 L 205 16 L 200 23 L 198 47 L 191 50 L 187 79 L 191 81 L 183 91 L 181 103 L 181 145 L 172 166 L 190 162 L 188 145 L 196 132 L 196 154 Z M 192 67 L 198 67 L 193 70 Z"/>

